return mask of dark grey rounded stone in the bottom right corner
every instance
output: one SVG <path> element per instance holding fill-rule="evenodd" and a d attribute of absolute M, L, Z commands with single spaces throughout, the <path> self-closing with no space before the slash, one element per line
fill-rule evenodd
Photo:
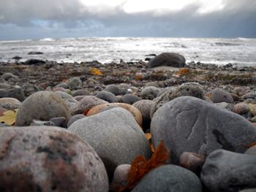
<path fill-rule="evenodd" d="M 214 150 L 200 174 L 209 191 L 240 191 L 256 187 L 256 155 Z"/>

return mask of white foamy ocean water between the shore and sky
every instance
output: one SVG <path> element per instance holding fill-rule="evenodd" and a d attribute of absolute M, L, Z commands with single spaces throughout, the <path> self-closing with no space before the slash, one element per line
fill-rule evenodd
<path fill-rule="evenodd" d="M 31 51 L 42 55 L 28 55 Z M 187 62 L 206 64 L 238 64 L 256 66 L 256 39 L 211 38 L 64 38 L 0 41 L 0 61 L 12 62 L 39 58 L 58 62 L 144 60 L 148 54 L 174 52 L 184 55 Z"/>

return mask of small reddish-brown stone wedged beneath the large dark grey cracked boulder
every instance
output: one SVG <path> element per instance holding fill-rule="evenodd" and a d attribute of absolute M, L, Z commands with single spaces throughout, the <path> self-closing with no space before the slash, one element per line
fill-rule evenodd
<path fill-rule="evenodd" d="M 200 174 L 203 163 L 206 161 L 205 155 L 200 155 L 192 152 L 184 152 L 181 154 L 179 164 L 186 169 L 189 169 L 195 174 Z"/>

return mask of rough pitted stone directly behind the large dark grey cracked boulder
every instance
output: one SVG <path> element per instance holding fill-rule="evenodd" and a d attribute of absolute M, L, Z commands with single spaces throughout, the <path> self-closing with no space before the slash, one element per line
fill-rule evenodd
<path fill-rule="evenodd" d="M 150 116 L 153 117 L 154 113 L 162 107 L 167 101 L 171 101 L 180 96 L 194 96 L 199 99 L 206 100 L 203 94 L 203 88 L 197 82 L 186 82 L 179 85 L 177 88 L 169 88 L 162 92 L 162 95 L 154 99 L 154 105 L 151 107 Z"/>

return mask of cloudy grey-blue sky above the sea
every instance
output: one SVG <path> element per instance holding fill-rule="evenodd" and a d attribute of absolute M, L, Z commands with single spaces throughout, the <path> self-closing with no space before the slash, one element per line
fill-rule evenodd
<path fill-rule="evenodd" d="M 256 38 L 256 0 L 0 0 L 0 40 Z"/>

